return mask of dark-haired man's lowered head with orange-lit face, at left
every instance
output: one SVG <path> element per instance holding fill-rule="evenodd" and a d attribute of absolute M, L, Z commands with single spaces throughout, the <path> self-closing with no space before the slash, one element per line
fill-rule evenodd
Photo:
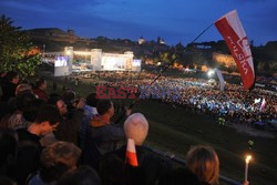
<path fill-rule="evenodd" d="M 57 129 L 61 122 L 59 110 L 51 105 L 41 106 L 34 120 L 34 124 L 39 127 L 39 135 L 45 135 Z M 38 131 L 38 130 L 37 130 Z"/>

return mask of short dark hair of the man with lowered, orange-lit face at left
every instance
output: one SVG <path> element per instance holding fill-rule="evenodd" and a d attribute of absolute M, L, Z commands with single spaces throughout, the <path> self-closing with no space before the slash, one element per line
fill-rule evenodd
<path fill-rule="evenodd" d="M 38 115 L 34 120 L 35 123 L 50 122 L 50 125 L 54 125 L 61 122 L 61 115 L 59 110 L 52 105 L 41 106 Z"/>

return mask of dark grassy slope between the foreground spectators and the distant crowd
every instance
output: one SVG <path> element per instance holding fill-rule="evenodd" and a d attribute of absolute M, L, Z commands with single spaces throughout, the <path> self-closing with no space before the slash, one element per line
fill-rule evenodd
<path fill-rule="evenodd" d="M 75 89 L 80 96 L 86 96 L 93 91 L 89 83 L 79 86 L 58 80 L 58 92 L 65 85 Z M 62 82 L 62 83 L 61 83 Z M 115 102 L 119 103 L 117 100 Z M 121 102 L 123 103 L 123 102 Z M 130 101 L 125 101 L 129 104 Z M 212 117 L 196 114 L 183 107 L 153 100 L 140 101 L 133 112 L 141 112 L 150 122 L 150 133 L 146 144 L 174 153 L 184 160 L 192 145 L 213 146 L 220 161 L 220 174 L 238 182 L 244 181 L 244 156 L 249 153 L 248 141 L 255 141 L 250 153 L 254 160 L 249 164 L 248 179 L 252 185 L 276 185 L 277 182 L 277 140 L 253 137 L 229 126 L 220 126 Z"/>

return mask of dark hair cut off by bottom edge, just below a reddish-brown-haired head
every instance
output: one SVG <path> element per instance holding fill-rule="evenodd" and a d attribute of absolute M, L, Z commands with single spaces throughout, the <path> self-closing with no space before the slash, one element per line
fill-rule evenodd
<path fill-rule="evenodd" d="M 57 185 L 101 185 L 101 179 L 95 169 L 81 166 L 62 175 Z"/>

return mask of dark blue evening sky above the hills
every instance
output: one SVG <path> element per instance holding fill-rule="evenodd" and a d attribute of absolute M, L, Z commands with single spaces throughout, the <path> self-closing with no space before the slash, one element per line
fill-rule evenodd
<path fill-rule="evenodd" d="M 277 0 L 1 0 L 0 14 L 23 29 L 73 29 L 84 38 L 191 42 L 211 23 L 236 9 L 249 40 L 277 40 Z M 201 41 L 222 37 L 212 27 Z"/>

